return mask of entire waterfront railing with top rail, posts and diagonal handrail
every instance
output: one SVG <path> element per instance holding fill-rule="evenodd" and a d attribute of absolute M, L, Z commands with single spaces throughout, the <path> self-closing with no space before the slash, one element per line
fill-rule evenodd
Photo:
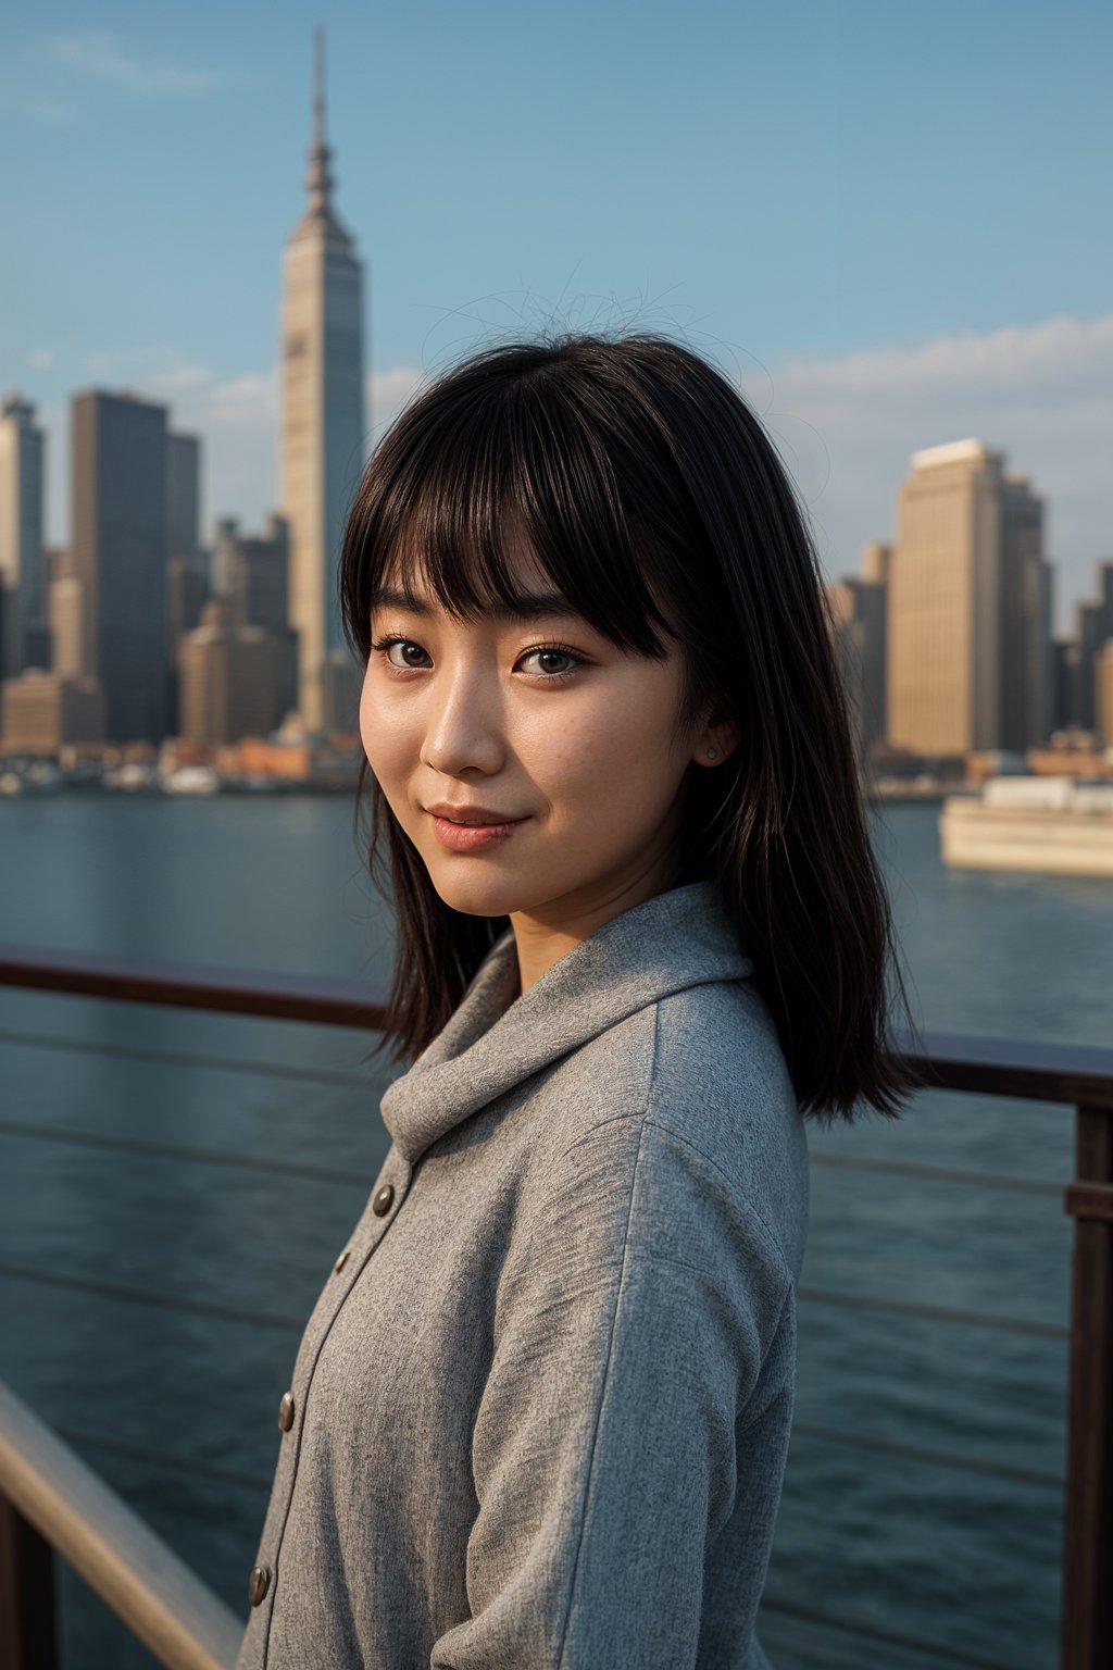
<path fill-rule="evenodd" d="M 355 982 L 23 947 L 0 945 L 0 985 L 365 1032 L 382 1024 L 382 995 Z M 923 1050 L 901 1035 L 891 1042 L 923 1089 L 1075 1109 L 1075 1179 L 1063 1196 L 1073 1219 L 1073 1258 L 1060 1670 L 1105 1670 L 1113 1663 L 1113 1050 L 948 1034 L 926 1034 Z M 264 1070 L 262 1064 L 239 1065 Z M 87 1134 L 60 1137 L 93 1141 Z M 1028 1187 L 1043 1192 L 1048 1186 Z M 274 1318 L 274 1324 L 294 1321 Z M 0 1670 L 48 1670 L 55 1663 L 52 1550 L 170 1670 L 232 1665 L 242 1623 L 0 1386 Z M 939 1657 L 958 1662 L 944 1648 Z"/>

